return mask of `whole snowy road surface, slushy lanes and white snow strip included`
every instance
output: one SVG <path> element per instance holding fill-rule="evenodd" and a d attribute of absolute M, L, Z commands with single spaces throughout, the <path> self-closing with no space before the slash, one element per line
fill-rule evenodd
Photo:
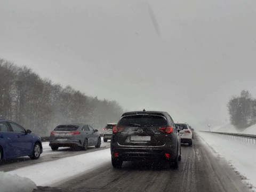
<path fill-rule="evenodd" d="M 35 191 L 251 191 L 234 167 L 213 153 L 201 137 L 195 135 L 193 147 L 182 146 L 178 170 L 166 164 L 156 168 L 150 163 L 131 162 L 125 162 L 120 170 L 113 169 L 109 142 L 87 151 L 51 151 L 44 143 L 44 154 L 38 161 L 16 159 L 0 169 L 28 177 L 37 186 L 50 186 Z"/>

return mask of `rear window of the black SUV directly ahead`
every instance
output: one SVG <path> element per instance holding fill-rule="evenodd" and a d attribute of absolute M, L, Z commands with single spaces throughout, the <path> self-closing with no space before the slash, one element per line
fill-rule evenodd
<path fill-rule="evenodd" d="M 166 118 L 159 115 L 129 115 L 124 116 L 118 122 L 118 126 L 163 126 Z"/>

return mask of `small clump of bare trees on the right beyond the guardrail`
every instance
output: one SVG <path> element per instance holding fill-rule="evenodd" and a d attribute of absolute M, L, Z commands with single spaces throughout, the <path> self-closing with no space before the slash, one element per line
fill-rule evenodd
<path fill-rule="evenodd" d="M 244 129 L 256 124 L 256 99 L 249 91 L 243 90 L 240 97 L 233 96 L 228 104 L 230 122 L 237 129 Z"/>

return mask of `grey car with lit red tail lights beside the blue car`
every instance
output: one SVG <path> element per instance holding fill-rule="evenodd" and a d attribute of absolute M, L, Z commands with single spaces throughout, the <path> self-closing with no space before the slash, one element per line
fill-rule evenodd
<path fill-rule="evenodd" d="M 101 138 L 98 130 L 94 130 L 90 125 L 62 124 L 51 132 L 49 145 L 52 150 L 58 150 L 59 147 L 80 147 L 87 150 L 89 146 L 99 148 Z"/>

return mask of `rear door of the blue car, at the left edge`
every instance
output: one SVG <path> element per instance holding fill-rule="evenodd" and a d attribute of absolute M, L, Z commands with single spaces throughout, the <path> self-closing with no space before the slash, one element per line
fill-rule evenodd
<path fill-rule="evenodd" d="M 15 133 L 10 129 L 9 124 L 5 121 L 0 122 L 0 145 L 3 147 L 4 158 L 17 157 L 19 148 L 16 148 L 14 143 L 17 142 Z"/>

